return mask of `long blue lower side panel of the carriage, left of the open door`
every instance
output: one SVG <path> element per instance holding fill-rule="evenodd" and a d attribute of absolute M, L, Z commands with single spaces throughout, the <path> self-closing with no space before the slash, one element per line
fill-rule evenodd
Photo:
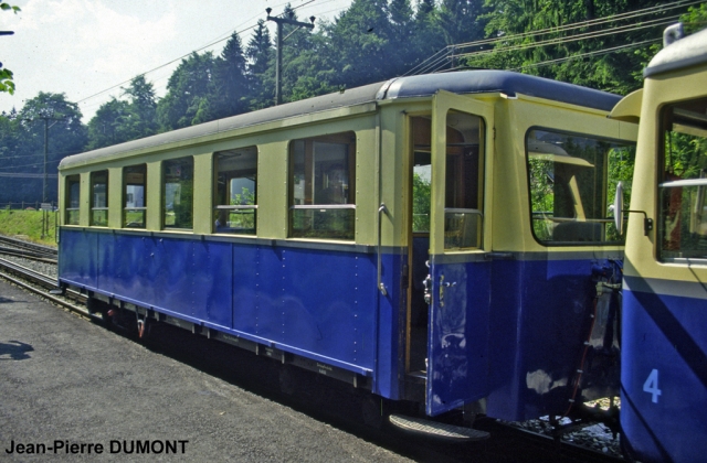
<path fill-rule="evenodd" d="M 63 283 L 373 377 L 394 398 L 402 259 L 383 261 L 393 291 L 379 299 L 366 252 L 67 228 L 60 240 Z"/>

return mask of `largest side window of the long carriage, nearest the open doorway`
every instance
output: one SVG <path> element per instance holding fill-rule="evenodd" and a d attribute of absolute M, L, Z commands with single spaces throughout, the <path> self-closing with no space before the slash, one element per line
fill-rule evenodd
<path fill-rule="evenodd" d="M 289 159 L 291 236 L 354 239 L 356 134 L 295 140 Z"/>

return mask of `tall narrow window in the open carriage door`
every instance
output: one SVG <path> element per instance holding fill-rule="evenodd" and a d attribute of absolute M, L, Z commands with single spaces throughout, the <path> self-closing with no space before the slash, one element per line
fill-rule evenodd
<path fill-rule="evenodd" d="M 444 249 L 481 248 L 484 120 L 457 111 L 446 117 Z"/>

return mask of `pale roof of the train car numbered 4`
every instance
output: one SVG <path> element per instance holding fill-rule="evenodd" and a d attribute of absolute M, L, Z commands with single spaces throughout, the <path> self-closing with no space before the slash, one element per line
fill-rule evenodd
<path fill-rule="evenodd" d="M 677 40 L 661 50 L 643 71 L 643 77 L 703 63 L 707 63 L 707 29 Z"/>

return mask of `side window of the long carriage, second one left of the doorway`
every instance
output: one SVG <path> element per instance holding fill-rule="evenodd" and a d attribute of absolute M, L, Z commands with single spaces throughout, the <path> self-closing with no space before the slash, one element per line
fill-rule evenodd
<path fill-rule="evenodd" d="M 220 151 L 214 155 L 213 230 L 255 235 L 257 148 Z"/>

